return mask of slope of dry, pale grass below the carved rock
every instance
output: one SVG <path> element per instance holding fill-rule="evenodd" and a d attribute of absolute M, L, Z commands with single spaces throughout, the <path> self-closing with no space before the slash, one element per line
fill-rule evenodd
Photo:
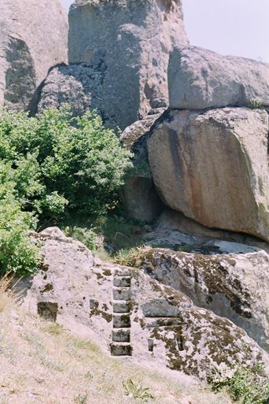
<path fill-rule="evenodd" d="M 29 316 L 12 303 L 1 283 L 0 404 L 129 404 L 123 383 L 141 381 L 155 398 L 149 403 L 180 404 L 183 395 L 196 404 L 227 404 L 195 379 L 181 373 L 158 373 L 113 359 L 89 340 L 62 326 Z M 8 303 L 7 303 L 8 302 Z M 188 403 L 185 401 L 184 403 Z"/>

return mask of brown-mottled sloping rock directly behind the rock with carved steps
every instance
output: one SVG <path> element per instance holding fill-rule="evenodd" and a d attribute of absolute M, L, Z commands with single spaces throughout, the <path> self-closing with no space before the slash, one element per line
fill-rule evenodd
<path fill-rule="evenodd" d="M 218 244 L 224 249 L 235 243 Z M 242 253 L 222 255 L 146 249 L 139 263 L 194 304 L 229 318 L 269 351 L 269 255 L 259 249 L 244 253 L 241 247 Z"/>

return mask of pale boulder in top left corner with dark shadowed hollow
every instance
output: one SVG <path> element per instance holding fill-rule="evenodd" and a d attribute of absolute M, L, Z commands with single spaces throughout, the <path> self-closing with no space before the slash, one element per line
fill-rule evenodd
<path fill-rule="evenodd" d="M 0 108 L 23 110 L 51 66 L 67 60 L 67 14 L 60 0 L 0 3 Z"/>

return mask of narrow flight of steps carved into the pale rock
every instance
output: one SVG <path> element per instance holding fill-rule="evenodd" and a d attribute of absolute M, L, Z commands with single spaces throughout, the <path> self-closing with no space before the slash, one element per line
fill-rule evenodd
<path fill-rule="evenodd" d="M 113 288 L 111 355 L 131 356 L 131 271 L 117 269 Z"/>

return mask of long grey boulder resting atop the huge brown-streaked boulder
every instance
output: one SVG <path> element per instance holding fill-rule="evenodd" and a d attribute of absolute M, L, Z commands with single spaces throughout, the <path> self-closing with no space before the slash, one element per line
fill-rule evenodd
<path fill-rule="evenodd" d="M 203 110 L 269 106 L 269 64 L 198 47 L 175 48 L 168 68 L 169 106 Z"/>

